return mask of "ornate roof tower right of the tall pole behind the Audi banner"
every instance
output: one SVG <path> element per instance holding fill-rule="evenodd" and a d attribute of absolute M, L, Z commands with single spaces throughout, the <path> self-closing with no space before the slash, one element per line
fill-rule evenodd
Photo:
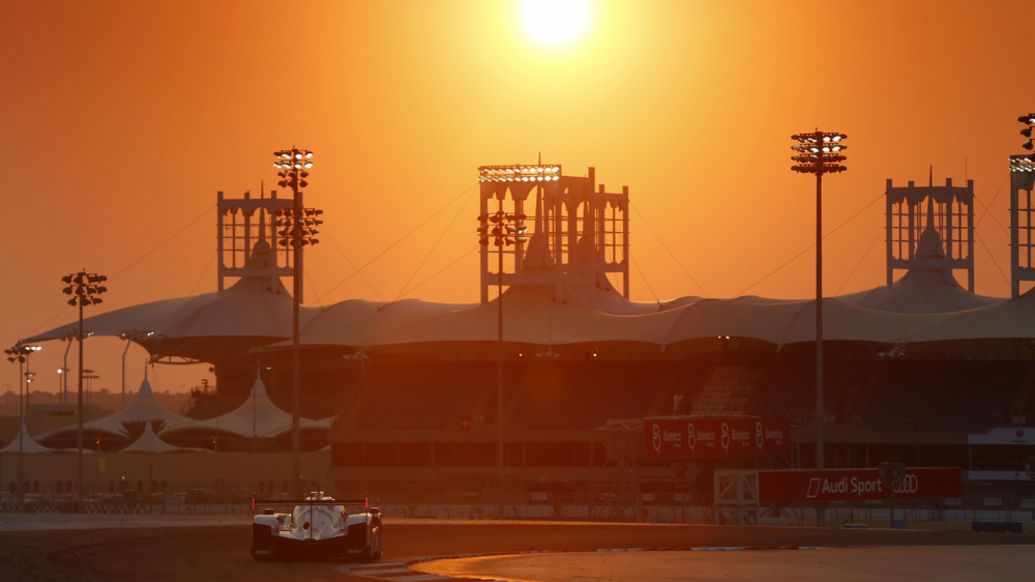
<path fill-rule="evenodd" d="M 906 186 L 886 182 L 887 284 L 895 269 L 928 268 L 967 271 L 967 289 L 974 292 L 974 180 L 967 186 L 926 186 L 912 180 Z"/>

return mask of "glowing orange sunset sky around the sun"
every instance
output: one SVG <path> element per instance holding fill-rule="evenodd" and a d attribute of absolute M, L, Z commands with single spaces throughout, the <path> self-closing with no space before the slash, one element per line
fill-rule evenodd
<path fill-rule="evenodd" d="M 966 167 L 977 290 L 1008 292 L 993 259 L 1008 277 L 1006 157 L 1035 109 L 1030 0 L 595 1 L 559 49 L 533 42 L 518 4 L 5 4 L 0 342 L 71 320 L 59 279 L 83 266 L 112 275 L 105 311 L 214 290 L 215 191 L 258 192 L 292 144 L 317 152 L 306 202 L 327 211 L 310 303 L 391 299 L 473 250 L 477 166 L 540 151 L 630 186 L 632 260 L 653 290 L 633 268 L 634 299 L 702 294 L 644 219 L 711 296 L 808 296 L 810 253 L 758 282 L 812 241 L 812 181 L 790 171 L 789 137 L 816 126 L 850 137 L 848 173 L 825 182 L 828 227 L 886 178 L 925 181 L 933 164 L 962 181 Z M 365 269 L 369 285 L 335 287 L 349 260 L 465 192 Z M 829 292 L 883 284 L 882 225 L 878 202 L 827 240 Z M 409 294 L 476 300 L 475 255 Z M 115 348 L 98 344 L 92 366 L 113 389 Z M 12 369 L 0 382 L 17 390 Z"/>

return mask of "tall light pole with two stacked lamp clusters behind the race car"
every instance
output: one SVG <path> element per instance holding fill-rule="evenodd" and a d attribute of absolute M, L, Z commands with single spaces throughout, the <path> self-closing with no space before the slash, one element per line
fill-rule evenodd
<path fill-rule="evenodd" d="M 313 168 L 313 152 L 307 149 L 282 149 L 273 152 L 273 168 L 277 170 L 280 187 L 290 187 L 294 193 L 291 209 L 283 209 L 276 222 L 282 246 L 291 246 L 294 273 L 292 282 L 291 312 L 291 491 L 295 499 L 302 497 L 302 458 L 301 436 L 299 434 L 299 410 L 301 408 L 301 355 L 300 344 L 300 311 L 302 304 L 302 248 L 319 242 L 316 228 L 323 224 L 319 219 L 323 210 L 302 207 L 302 188 L 308 185 L 305 178 Z"/>

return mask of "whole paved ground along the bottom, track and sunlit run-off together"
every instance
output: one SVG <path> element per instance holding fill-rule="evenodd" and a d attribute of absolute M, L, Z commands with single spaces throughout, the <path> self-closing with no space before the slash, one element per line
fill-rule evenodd
<path fill-rule="evenodd" d="M 919 577 L 951 582 L 1025 579 L 1035 572 L 1035 536 L 1011 533 L 387 518 L 385 555 L 366 568 L 254 561 L 246 519 L 239 525 L 230 525 L 233 519 L 220 525 L 211 519 L 162 523 L 143 516 L 114 523 L 55 517 L 40 521 L 0 515 L 4 580 L 283 582 L 476 576 L 541 582 Z"/>

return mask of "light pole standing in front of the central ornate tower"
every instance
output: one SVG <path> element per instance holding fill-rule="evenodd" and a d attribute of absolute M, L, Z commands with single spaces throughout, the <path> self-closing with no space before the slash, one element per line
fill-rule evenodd
<path fill-rule="evenodd" d="M 524 242 L 528 227 L 522 225 L 525 214 L 505 212 L 503 197 L 498 200 L 496 212 L 478 216 L 481 226 L 477 230 L 478 242 L 484 246 L 496 246 L 499 259 L 496 272 L 496 340 L 499 342 L 496 361 L 496 501 L 499 517 L 503 519 L 503 250 L 516 242 Z"/>

